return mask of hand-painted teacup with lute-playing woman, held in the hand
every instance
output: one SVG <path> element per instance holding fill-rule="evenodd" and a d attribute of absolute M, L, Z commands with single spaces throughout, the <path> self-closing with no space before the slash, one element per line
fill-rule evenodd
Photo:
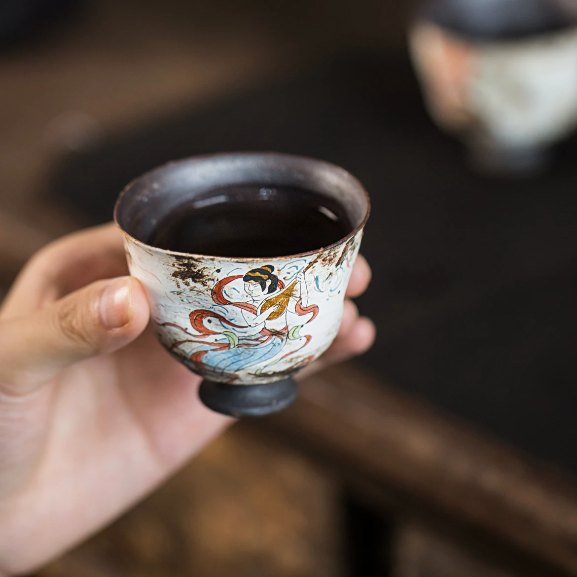
<path fill-rule="evenodd" d="M 179 207 L 194 205 L 213 189 L 253 184 L 267 191 L 307 189 L 336 201 L 350 230 L 329 246 L 263 258 L 181 253 L 151 244 L 159 223 Z M 279 153 L 180 160 L 123 190 L 114 218 L 130 274 L 147 292 L 160 342 L 204 377 L 199 394 L 209 408 L 264 415 L 293 402 L 291 376 L 327 350 L 338 332 L 369 205 L 361 183 L 343 168 Z M 264 236 L 275 233 L 265 226 Z"/>

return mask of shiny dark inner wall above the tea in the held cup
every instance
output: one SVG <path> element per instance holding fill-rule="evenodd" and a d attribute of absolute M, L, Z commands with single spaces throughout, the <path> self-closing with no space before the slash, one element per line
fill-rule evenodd
<path fill-rule="evenodd" d="M 158 223 L 182 205 L 212 189 L 250 184 L 308 189 L 338 203 L 352 226 L 343 239 L 369 216 L 368 194 L 343 168 L 280 153 L 230 153 L 171 162 L 135 179 L 119 196 L 114 218 L 125 233 L 149 244 Z"/>

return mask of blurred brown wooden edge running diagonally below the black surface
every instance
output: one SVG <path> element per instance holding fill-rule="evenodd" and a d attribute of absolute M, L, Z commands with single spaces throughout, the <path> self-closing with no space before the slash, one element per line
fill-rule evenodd
<path fill-rule="evenodd" d="M 357 365 L 301 386 L 266 426 L 336 469 L 394 484 L 527 554 L 577 575 L 577 486 L 514 449 L 386 387 Z"/>

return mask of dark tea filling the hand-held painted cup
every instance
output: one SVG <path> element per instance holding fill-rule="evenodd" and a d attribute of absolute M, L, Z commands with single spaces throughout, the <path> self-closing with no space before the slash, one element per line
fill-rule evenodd
<path fill-rule="evenodd" d="M 340 204 L 319 193 L 242 185 L 213 189 L 181 205 L 148 243 L 183 253 L 275 257 L 332 245 L 352 230 Z"/>

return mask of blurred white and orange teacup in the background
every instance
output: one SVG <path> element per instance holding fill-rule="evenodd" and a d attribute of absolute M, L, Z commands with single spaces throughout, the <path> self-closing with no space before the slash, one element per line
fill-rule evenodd
<path fill-rule="evenodd" d="M 557 0 L 429 0 L 409 32 L 431 117 L 490 173 L 534 173 L 577 126 L 577 18 Z"/>

